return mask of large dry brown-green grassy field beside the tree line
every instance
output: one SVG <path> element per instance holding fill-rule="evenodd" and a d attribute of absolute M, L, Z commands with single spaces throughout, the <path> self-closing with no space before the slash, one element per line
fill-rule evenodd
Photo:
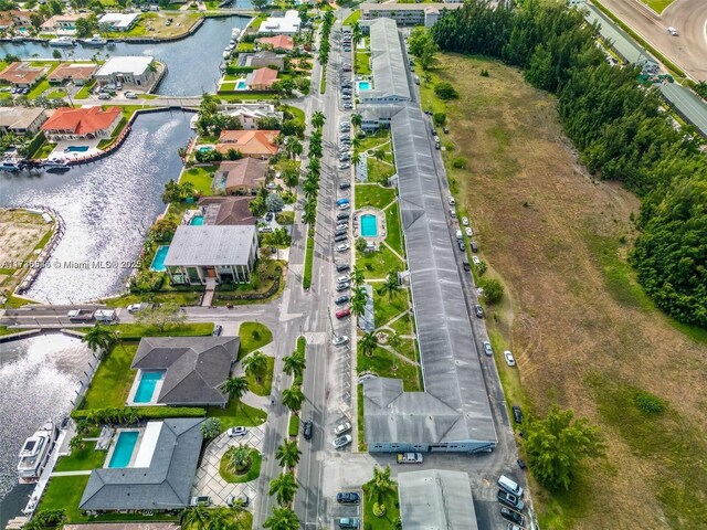
<path fill-rule="evenodd" d="M 488 275 L 506 288 L 487 314 L 496 353 L 513 349 L 518 363 L 498 363 L 506 399 L 530 414 L 555 403 L 573 409 L 605 437 L 608 457 L 589 462 L 569 494 L 531 483 L 540 527 L 704 527 L 707 343 L 701 330 L 683 332 L 663 316 L 626 264 L 639 200 L 585 173 L 555 99 L 517 71 L 445 55 L 437 76 L 462 96 L 429 102 L 428 87 L 423 108 L 446 112 L 447 158 L 468 160 L 466 170 L 447 163 L 452 189 Z M 665 411 L 643 413 L 642 393 Z"/>

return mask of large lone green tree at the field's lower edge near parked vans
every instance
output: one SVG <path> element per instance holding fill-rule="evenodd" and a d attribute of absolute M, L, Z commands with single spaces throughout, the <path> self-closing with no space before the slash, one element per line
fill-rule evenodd
<path fill-rule="evenodd" d="M 581 462 L 604 453 L 595 426 L 584 418 L 576 420 L 572 411 L 560 411 L 557 406 L 545 420 L 530 422 L 524 446 L 532 475 L 550 491 L 569 490 Z"/>

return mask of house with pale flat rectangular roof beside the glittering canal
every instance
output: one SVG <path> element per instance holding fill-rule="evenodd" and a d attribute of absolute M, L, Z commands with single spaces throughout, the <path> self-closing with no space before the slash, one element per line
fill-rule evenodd
<path fill-rule="evenodd" d="M 246 284 L 257 257 L 255 226 L 182 224 L 169 245 L 165 266 L 172 284 Z"/>

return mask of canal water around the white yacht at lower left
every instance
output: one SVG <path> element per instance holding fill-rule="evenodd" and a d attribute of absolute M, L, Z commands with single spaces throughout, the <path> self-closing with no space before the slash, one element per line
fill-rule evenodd
<path fill-rule="evenodd" d="M 32 491 L 18 485 L 22 444 L 46 420 L 62 422 L 95 362 L 80 339 L 61 333 L 0 343 L 0 528 L 20 515 Z"/>

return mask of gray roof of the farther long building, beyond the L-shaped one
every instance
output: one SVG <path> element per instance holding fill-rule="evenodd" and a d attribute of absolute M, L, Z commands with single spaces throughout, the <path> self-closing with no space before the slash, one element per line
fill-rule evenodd
<path fill-rule="evenodd" d="M 408 70 L 402 55 L 398 25 L 392 19 L 379 19 L 370 24 L 371 70 L 373 91 L 369 94 L 410 99 Z"/>

